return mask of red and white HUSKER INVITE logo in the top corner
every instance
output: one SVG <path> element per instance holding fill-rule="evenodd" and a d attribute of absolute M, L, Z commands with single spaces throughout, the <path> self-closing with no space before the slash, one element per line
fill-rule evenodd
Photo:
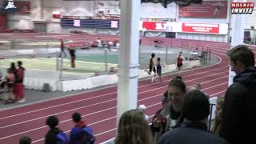
<path fill-rule="evenodd" d="M 253 14 L 254 2 L 232 2 L 231 14 Z"/>

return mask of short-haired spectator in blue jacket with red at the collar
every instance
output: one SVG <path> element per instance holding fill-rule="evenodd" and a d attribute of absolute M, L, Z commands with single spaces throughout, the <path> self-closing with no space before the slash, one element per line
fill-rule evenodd
<path fill-rule="evenodd" d="M 70 144 L 94 144 L 93 130 L 82 121 L 81 114 L 74 113 L 72 119 L 75 125 L 70 132 Z"/>

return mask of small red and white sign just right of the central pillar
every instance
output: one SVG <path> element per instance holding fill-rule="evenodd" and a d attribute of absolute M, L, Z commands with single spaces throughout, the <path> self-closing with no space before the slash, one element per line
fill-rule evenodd
<path fill-rule="evenodd" d="M 142 22 L 142 30 L 166 31 L 166 22 Z"/>

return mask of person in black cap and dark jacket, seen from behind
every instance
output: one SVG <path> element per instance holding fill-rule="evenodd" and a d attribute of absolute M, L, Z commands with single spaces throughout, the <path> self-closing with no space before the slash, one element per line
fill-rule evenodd
<path fill-rule="evenodd" d="M 210 102 L 200 90 L 190 90 L 182 105 L 185 120 L 182 126 L 170 130 L 160 138 L 158 144 L 228 144 L 224 138 L 207 130 Z"/>

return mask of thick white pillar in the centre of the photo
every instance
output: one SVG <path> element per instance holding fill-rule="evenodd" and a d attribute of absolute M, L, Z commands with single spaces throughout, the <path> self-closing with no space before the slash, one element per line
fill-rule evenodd
<path fill-rule="evenodd" d="M 137 107 L 140 10 L 141 1 L 121 0 L 117 122 L 126 110 Z"/>

